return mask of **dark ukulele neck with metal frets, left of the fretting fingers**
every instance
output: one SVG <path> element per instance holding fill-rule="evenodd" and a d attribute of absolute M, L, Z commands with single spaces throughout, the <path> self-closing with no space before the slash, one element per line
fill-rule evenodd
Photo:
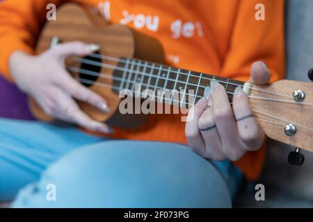
<path fill-rule="evenodd" d="M 133 58 L 120 58 L 113 71 L 115 92 L 129 89 L 136 97 L 153 94 L 158 102 L 175 105 L 194 105 L 198 102 L 211 80 L 217 80 L 225 87 L 230 101 L 234 89 L 245 83 L 230 78 L 220 78 L 186 69 L 177 69 L 154 62 Z M 168 93 L 169 94 L 168 94 Z M 175 95 L 175 93 L 179 96 Z M 165 98 L 163 98 L 165 97 Z"/>

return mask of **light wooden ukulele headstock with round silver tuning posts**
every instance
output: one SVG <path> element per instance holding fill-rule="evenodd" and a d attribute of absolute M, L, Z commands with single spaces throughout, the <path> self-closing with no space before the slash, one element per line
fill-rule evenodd
<path fill-rule="evenodd" d="M 313 152 L 313 85 L 280 80 L 251 86 L 250 105 L 272 139 Z"/>

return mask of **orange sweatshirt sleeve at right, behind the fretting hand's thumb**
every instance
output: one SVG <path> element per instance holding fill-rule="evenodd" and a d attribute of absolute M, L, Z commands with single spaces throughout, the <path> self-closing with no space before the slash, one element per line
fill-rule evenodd
<path fill-rule="evenodd" d="M 284 1 L 241 0 L 236 10 L 222 73 L 248 80 L 252 62 L 262 60 L 271 71 L 271 82 L 283 78 Z M 264 20 L 258 20 L 262 12 Z"/>

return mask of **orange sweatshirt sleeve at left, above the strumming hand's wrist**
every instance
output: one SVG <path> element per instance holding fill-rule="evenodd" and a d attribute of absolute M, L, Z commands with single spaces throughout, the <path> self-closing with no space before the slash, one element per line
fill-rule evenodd
<path fill-rule="evenodd" d="M 47 4 L 61 5 L 62 0 L 5 0 L 0 2 L 0 73 L 8 80 L 11 53 L 33 53 L 35 42 L 46 21 Z"/>

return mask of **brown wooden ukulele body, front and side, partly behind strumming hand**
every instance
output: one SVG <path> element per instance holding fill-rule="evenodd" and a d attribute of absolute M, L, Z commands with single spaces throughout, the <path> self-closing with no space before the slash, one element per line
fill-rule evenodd
<path fill-rule="evenodd" d="M 163 48 L 157 40 L 126 26 L 107 24 L 101 15 L 88 8 L 81 8 L 75 3 L 67 3 L 58 8 L 56 18 L 55 21 L 47 22 L 42 29 L 36 46 L 36 53 L 39 54 L 49 49 L 52 39 L 57 37 L 60 42 L 81 41 L 86 44 L 97 44 L 100 47 L 97 53 L 101 55 L 115 58 L 138 58 L 164 63 Z M 117 65 L 116 62 L 111 61 L 111 63 Z M 113 75 L 113 69 L 101 67 L 99 73 Z M 98 78 L 96 83 L 112 85 L 112 79 Z M 89 87 L 103 96 L 109 102 L 110 108 L 110 112 L 105 114 L 92 105 L 77 101 L 81 109 L 91 118 L 123 128 L 137 128 L 145 121 L 143 114 L 120 114 L 118 106 L 121 98 L 111 88 L 101 87 L 99 84 L 93 84 Z M 53 120 L 31 97 L 29 98 L 29 108 L 37 119 L 42 121 Z"/>

